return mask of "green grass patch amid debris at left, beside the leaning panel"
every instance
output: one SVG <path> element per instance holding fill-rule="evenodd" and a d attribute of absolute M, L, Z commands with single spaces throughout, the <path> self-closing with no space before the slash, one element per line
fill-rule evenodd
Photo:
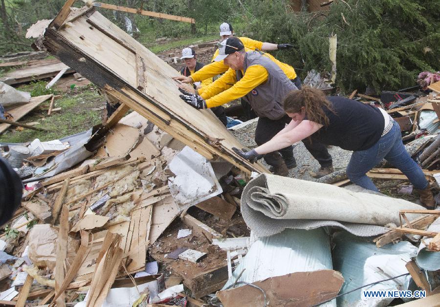
<path fill-rule="evenodd" d="M 40 122 L 36 127 L 47 129 L 48 132 L 26 128 L 17 131 L 9 128 L 0 135 L 0 143 L 26 143 L 34 139 L 44 142 L 88 130 L 101 122 L 102 110 L 96 108 L 103 106 L 104 101 L 105 98 L 100 96 L 96 89 L 91 90 L 87 86 L 77 87 L 75 91 L 55 100 L 54 108 L 61 107 L 61 112 L 48 116 L 47 110 L 50 104 L 48 100 L 19 121 L 20 123 Z"/>

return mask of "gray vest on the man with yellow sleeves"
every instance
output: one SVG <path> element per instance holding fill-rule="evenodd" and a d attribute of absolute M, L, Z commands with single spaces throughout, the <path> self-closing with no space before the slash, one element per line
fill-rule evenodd
<path fill-rule="evenodd" d="M 265 83 L 251 90 L 243 99 L 251 105 L 258 117 L 267 117 L 278 120 L 286 115 L 283 101 L 287 93 L 298 89 L 287 77 L 284 71 L 269 58 L 257 51 L 246 52 L 244 56 L 243 71 L 252 65 L 262 65 L 269 76 Z M 242 71 L 236 70 L 237 82 L 242 79 Z"/>

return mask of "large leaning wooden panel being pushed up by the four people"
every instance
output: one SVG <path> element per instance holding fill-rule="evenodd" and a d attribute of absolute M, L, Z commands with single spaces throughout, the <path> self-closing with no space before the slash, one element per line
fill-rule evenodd
<path fill-rule="evenodd" d="M 248 173 L 267 172 L 231 150 L 242 145 L 210 110 L 179 98 L 174 68 L 99 12 L 69 16 L 58 30 L 49 25 L 44 38 L 47 50 L 66 65 L 206 158 L 221 157 Z"/>

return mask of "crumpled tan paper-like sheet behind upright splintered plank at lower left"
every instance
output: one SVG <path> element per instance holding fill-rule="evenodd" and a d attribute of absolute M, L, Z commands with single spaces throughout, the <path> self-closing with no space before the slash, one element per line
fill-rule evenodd
<path fill-rule="evenodd" d="M 56 263 L 57 240 L 57 228 L 49 224 L 34 225 L 29 231 L 29 259 L 32 263 L 53 270 Z M 73 262 L 78 247 L 78 240 L 68 237 L 66 262 Z"/>

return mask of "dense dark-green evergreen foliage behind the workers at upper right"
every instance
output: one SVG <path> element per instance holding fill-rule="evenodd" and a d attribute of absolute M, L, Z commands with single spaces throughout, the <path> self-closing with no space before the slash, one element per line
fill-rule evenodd
<path fill-rule="evenodd" d="M 293 51 L 276 56 L 295 68 L 330 71 L 328 39 L 337 34 L 336 83 L 342 90 L 398 89 L 414 85 L 420 71 L 439 69 L 438 1 L 335 0 L 327 16 L 285 13 L 282 1 L 250 2 L 253 38 L 292 42 Z M 278 16 L 269 18 L 274 11 Z"/>

